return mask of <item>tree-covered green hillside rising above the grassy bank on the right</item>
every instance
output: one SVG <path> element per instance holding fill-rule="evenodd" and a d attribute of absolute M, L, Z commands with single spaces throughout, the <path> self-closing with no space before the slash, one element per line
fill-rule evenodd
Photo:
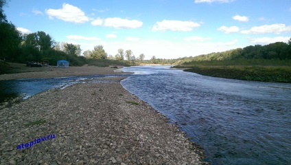
<path fill-rule="evenodd" d="M 178 65 L 291 65 L 291 39 L 288 43 L 250 45 L 225 52 L 181 58 Z M 237 63 L 240 62 L 240 63 Z"/>

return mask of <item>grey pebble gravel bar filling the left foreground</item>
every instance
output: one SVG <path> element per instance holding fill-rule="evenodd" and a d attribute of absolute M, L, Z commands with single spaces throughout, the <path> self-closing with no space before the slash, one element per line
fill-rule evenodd
<path fill-rule="evenodd" d="M 205 164 L 185 133 L 120 83 L 36 94 L 1 107 L 0 125 L 0 164 Z M 56 136 L 17 149 L 47 135 Z"/>

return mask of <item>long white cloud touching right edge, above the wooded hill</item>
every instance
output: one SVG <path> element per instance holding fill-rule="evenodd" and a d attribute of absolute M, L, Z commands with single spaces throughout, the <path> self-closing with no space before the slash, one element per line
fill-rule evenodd
<path fill-rule="evenodd" d="M 291 32 L 291 25 L 286 26 L 285 24 L 272 24 L 272 25 L 261 25 L 255 26 L 250 30 L 242 30 L 242 34 L 266 34 L 275 33 L 280 34 L 282 32 Z"/>

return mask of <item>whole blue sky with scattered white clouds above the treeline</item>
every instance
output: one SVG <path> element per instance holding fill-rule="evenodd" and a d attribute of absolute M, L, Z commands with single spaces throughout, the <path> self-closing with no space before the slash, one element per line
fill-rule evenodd
<path fill-rule="evenodd" d="M 23 33 L 113 56 L 178 58 L 291 38 L 290 0 L 12 0 L 4 10 Z"/>

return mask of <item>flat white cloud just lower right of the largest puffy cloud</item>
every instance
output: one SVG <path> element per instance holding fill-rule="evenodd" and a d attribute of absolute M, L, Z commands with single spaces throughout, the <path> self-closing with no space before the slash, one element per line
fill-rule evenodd
<path fill-rule="evenodd" d="M 143 26 L 143 22 L 137 20 L 128 20 L 128 19 L 121 19 L 121 18 L 107 18 L 107 19 L 100 19 L 97 18 L 91 22 L 92 25 L 103 25 L 106 27 L 112 28 L 127 28 L 127 29 L 135 29 L 141 28 Z"/>

